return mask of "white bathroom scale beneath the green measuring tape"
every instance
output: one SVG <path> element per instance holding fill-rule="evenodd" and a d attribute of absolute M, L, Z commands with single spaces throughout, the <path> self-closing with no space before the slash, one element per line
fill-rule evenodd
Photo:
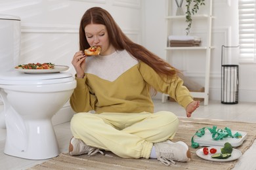
<path fill-rule="evenodd" d="M 225 143 L 230 143 L 233 147 L 240 146 L 244 140 L 246 139 L 247 133 L 244 131 L 232 131 L 232 135 L 234 133 L 239 132 L 242 135 L 242 138 L 235 138 L 235 137 L 225 137 L 221 140 L 214 140 L 211 136 L 211 132 L 205 129 L 205 134 L 202 137 L 194 136 L 194 142 L 198 143 L 199 146 L 224 146 Z"/>

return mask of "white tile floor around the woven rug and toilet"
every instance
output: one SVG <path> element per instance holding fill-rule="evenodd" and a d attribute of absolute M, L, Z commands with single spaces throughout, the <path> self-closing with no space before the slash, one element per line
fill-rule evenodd
<path fill-rule="evenodd" d="M 160 110 L 170 110 L 177 114 L 177 116 L 186 116 L 186 112 L 184 109 L 177 105 L 175 102 L 161 103 L 160 100 L 154 100 L 155 103 L 155 111 Z M 233 120 L 233 121 L 242 121 L 242 122 L 251 122 L 256 123 L 256 103 L 238 103 L 236 105 L 224 105 L 221 104 L 220 101 L 209 101 L 209 105 L 204 106 L 200 105 L 200 107 L 192 114 L 192 118 L 208 118 L 208 119 L 220 119 L 220 120 Z M 70 138 L 72 137 L 72 133 L 70 131 L 70 123 L 66 122 L 64 124 L 59 124 L 54 126 L 54 130 L 56 132 L 56 137 L 58 139 L 58 144 L 60 147 L 60 152 L 68 151 L 68 143 Z M 0 133 L 5 133 L 5 130 L 0 129 Z M 255 155 L 256 143 L 254 144 L 254 148 L 251 149 L 249 157 L 253 161 L 248 161 L 247 159 L 241 159 L 239 165 L 242 167 L 246 167 L 245 169 L 251 169 L 251 162 L 255 162 L 255 158 L 251 157 L 251 155 Z M 28 167 L 33 167 L 33 165 L 42 163 L 47 160 L 25 160 L 21 158 L 16 158 L 12 156 L 8 156 L 3 153 L 3 149 L 5 147 L 5 140 L 0 139 L 0 169 L 26 169 Z M 256 167 L 256 163 L 253 164 L 253 167 Z M 235 167 L 234 169 L 240 169 L 240 167 Z M 243 168 L 244 169 L 244 168 Z M 255 169 L 255 168 L 253 168 Z"/>

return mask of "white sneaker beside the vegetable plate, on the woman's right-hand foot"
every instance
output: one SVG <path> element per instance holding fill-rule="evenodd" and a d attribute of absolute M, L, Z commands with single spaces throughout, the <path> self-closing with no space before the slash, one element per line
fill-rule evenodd
<path fill-rule="evenodd" d="M 165 141 L 155 143 L 156 157 L 165 165 L 175 164 L 175 161 L 190 161 L 191 152 L 188 145 L 182 141 L 173 143 Z"/>

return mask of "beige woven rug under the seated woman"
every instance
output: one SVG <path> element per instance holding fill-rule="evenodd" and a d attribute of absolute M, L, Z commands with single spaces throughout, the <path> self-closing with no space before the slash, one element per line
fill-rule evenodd
<path fill-rule="evenodd" d="M 224 127 L 230 127 L 230 129 L 234 131 L 238 130 L 247 132 L 247 138 L 244 143 L 237 148 L 242 153 L 244 153 L 251 144 L 253 144 L 253 141 L 256 138 L 256 124 L 192 118 L 179 118 L 179 120 L 179 130 L 177 131 L 177 135 L 173 141 L 184 141 L 189 146 L 191 145 L 191 137 L 202 127 L 217 126 L 217 128 L 221 129 L 224 129 Z M 160 161 L 155 159 L 123 159 L 115 156 L 111 152 L 106 152 L 108 156 L 102 156 L 101 154 L 96 154 L 94 156 L 70 156 L 69 154 L 62 153 L 56 158 L 52 158 L 51 160 L 39 165 L 35 165 L 30 169 L 232 169 L 236 161 L 238 161 L 206 161 L 196 156 L 196 150 L 198 150 L 198 148 L 194 149 L 190 146 L 190 150 L 192 152 L 191 161 L 187 163 L 177 162 L 175 165 L 170 166 L 163 165 Z"/>

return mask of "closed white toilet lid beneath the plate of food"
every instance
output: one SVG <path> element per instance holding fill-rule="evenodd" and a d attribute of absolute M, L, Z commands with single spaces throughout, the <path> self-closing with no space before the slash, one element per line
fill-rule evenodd
<path fill-rule="evenodd" d="M 56 84 L 72 81 L 74 77 L 71 73 L 26 74 L 16 71 L 0 73 L 2 85 Z"/>

